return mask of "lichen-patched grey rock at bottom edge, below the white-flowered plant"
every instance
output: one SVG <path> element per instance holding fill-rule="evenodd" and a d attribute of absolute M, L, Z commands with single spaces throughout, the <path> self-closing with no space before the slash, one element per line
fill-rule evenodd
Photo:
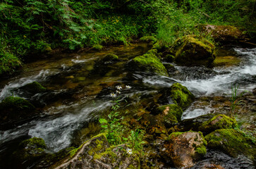
<path fill-rule="evenodd" d="M 54 168 L 140 168 L 135 152 L 125 144 L 110 147 L 104 134 L 99 134 L 70 152 L 70 157 Z"/>

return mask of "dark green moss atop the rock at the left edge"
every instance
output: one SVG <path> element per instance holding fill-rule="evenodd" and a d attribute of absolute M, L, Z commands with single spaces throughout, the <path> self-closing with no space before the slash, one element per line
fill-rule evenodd
<path fill-rule="evenodd" d="M 12 110 L 32 110 L 35 106 L 30 104 L 29 101 L 20 97 L 9 96 L 0 103 L 0 110 L 11 108 Z"/>

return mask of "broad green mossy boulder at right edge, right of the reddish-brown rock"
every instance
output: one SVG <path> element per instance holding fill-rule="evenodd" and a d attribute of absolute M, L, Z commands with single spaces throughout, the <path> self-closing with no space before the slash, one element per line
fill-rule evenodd
<path fill-rule="evenodd" d="M 219 149 L 225 154 L 237 158 L 243 154 L 248 158 L 255 160 L 256 145 L 251 139 L 246 138 L 243 133 L 234 129 L 219 129 L 207 134 L 205 139 L 208 142 L 208 147 Z"/>

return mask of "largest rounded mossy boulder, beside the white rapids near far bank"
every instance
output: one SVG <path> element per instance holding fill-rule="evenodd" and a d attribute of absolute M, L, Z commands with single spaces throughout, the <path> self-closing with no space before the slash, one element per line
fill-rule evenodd
<path fill-rule="evenodd" d="M 188 35 L 173 44 L 175 59 L 179 65 L 212 65 L 216 58 L 215 46 L 206 39 Z"/>

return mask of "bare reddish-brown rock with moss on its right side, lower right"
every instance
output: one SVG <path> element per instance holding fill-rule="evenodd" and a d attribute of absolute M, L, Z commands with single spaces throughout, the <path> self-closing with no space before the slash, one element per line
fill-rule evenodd
<path fill-rule="evenodd" d="M 173 132 L 161 153 L 171 158 L 176 167 L 188 168 L 206 154 L 206 145 L 201 132 Z"/>

